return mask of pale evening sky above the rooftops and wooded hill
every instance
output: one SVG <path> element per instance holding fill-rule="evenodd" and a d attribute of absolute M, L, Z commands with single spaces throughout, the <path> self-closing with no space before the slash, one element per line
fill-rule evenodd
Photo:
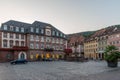
<path fill-rule="evenodd" d="M 47 22 L 62 32 L 98 30 L 120 24 L 120 0 L 0 0 L 0 23 Z"/>

